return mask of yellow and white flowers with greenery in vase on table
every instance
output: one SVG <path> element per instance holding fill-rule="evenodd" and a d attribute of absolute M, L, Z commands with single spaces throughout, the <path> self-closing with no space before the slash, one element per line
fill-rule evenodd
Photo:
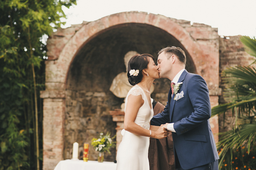
<path fill-rule="evenodd" d="M 105 152 L 108 151 L 108 153 L 110 153 L 109 149 L 111 147 L 115 146 L 116 142 L 113 142 L 113 138 L 116 137 L 116 135 L 114 135 L 112 138 L 110 137 L 111 133 L 107 133 L 106 135 L 104 135 L 103 133 L 99 134 L 99 138 L 93 138 L 92 139 L 92 143 L 91 145 L 94 147 L 94 149 L 96 151 L 99 152 Z"/>

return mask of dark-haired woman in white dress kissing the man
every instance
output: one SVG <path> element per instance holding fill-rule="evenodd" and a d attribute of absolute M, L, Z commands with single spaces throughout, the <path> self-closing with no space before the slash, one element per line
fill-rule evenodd
<path fill-rule="evenodd" d="M 136 54 L 128 63 L 128 81 L 133 87 L 125 99 L 124 130 L 119 144 L 116 170 L 149 170 L 149 138 L 166 138 L 167 130 L 150 126 L 153 107 L 149 89 L 159 78 L 158 66 L 149 54 Z"/>

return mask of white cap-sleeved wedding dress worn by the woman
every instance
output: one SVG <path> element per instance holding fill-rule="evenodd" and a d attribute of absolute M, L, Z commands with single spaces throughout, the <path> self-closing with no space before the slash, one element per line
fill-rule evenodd
<path fill-rule="evenodd" d="M 152 104 L 148 103 L 143 89 L 140 86 L 135 85 L 131 88 L 126 96 L 125 109 L 129 95 L 142 96 L 144 104 L 142 107 L 140 107 L 134 122 L 149 130 L 150 120 L 154 115 Z M 149 137 L 134 135 L 126 130 L 122 130 L 122 135 L 122 141 L 119 144 L 116 154 L 116 170 L 149 170 Z"/>

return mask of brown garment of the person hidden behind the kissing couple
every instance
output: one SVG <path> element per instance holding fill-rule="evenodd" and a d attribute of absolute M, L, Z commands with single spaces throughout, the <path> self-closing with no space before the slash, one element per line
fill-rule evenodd
<path fill-rule="evenodd" d="M 163 104 L 157 102 L 154 107 L 154 115 L 163 112 Z M 175 159 L 173 152 L 172 133 L 169 132 L 167 138 L 150 138 L 148 148 L 148 160 L 150 170 L 175 170 Z"/>

